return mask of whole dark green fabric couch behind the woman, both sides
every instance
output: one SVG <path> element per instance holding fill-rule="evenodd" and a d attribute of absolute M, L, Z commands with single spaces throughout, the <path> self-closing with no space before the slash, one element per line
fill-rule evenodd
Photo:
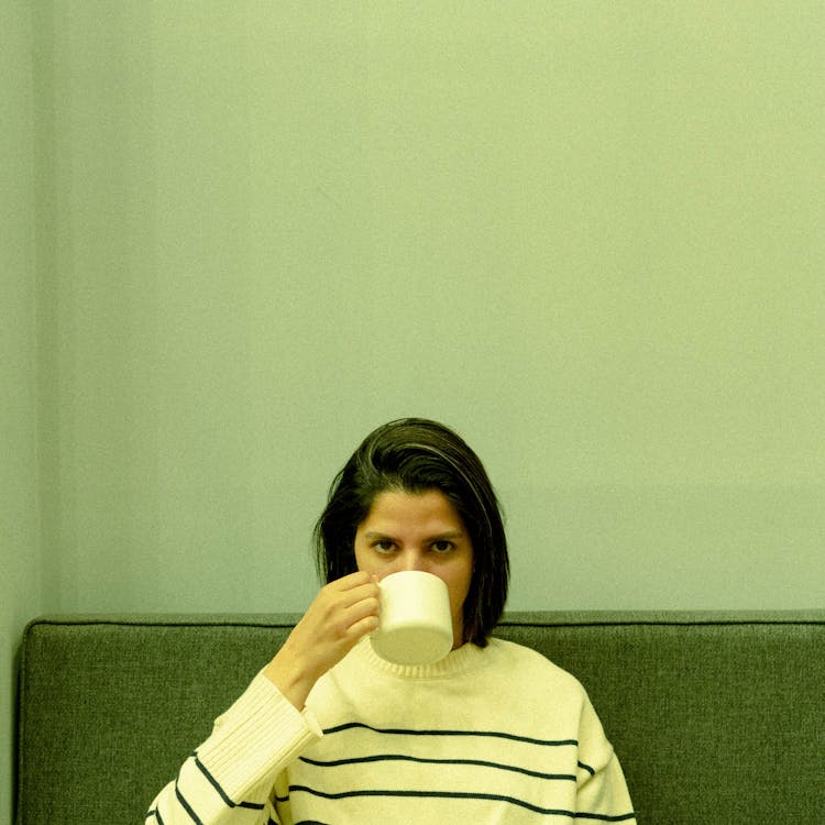
<path fill-rule="evenodd" d="M 295 619 L 32 622 L 18 825 L 141 823 Z M 585 684 L 641 825 L 825 823 L 825 610 L 509 614 L 496 635 Z"/>

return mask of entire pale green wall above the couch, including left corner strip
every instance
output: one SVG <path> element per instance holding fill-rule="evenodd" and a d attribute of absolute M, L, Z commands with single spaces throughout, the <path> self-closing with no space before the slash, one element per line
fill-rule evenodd
<path fill-rule="evenodd" d="M 301 609 L 409 414 L 485 459 L 512 609 L 825 603 L 820 2 L 0 22 L 3 718 L 41 610 Z"/>

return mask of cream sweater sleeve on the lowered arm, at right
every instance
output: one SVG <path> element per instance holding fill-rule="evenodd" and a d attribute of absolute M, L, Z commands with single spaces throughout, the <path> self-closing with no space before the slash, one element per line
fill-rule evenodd
<path fill-rule="evenodd" d="M 622 766 L 590 701 L 579 728 L 576 813 L 602 822 L 636 823 Z"/>

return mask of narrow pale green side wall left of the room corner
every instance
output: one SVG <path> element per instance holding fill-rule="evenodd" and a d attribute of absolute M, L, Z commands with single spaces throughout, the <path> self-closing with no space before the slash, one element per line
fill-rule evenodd
<path fill-rule="evenodd" d="M 16 652 L 44 609 L 37 512 L 32 26 L 0 2 L 0 822 L 12 822 Z"/>

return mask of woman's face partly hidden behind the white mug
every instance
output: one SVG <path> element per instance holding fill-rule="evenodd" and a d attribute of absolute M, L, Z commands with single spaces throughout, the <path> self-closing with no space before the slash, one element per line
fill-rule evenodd
<path fill-rule="evenodd" d="M 447 585 L 453 648 L 463 644 L 464 600 L 473 578 L 473 546 L 449 498 L 438 490 L 385 491 L 375 496 L 355 531 L 359 570 L 381 580 L 402 570 L 422 570 Z"/>

